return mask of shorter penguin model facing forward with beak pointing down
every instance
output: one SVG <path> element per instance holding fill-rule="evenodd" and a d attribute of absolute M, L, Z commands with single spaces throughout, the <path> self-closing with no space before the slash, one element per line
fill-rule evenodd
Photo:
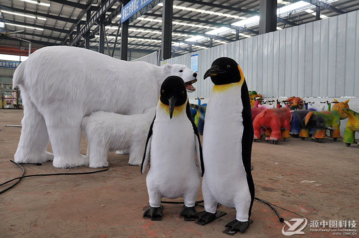
<path fill-rule="evenodd" d="M 161 220 L 162 197 L 182 197 L 184 206 L 180 215 L 185 221 L 194 221 L 194 205 L 200 184 L 195 154 L 203 176 L 202 148 L 191 119 L 185 84 L 180 77 L 170 76 L 161 86 L 141 166 L 141 173 L 144 173 L 151 155 L 146 178 L 150 206 L 144 217 Z"/>

